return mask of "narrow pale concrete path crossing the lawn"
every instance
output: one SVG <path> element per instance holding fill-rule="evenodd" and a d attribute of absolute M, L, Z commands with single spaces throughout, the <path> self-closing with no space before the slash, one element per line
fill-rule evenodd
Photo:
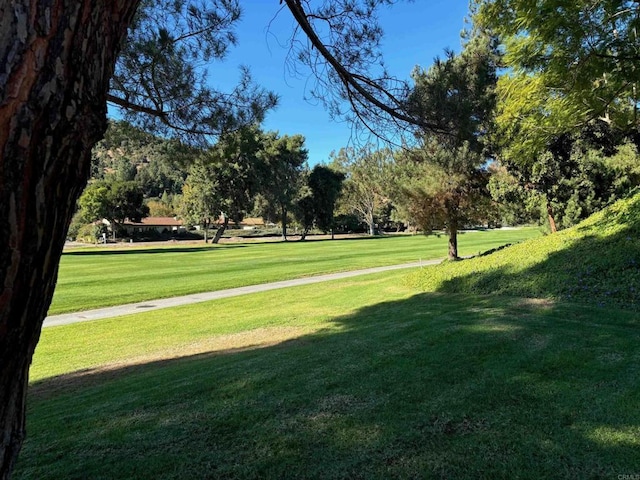
<path fill-rule="evenodd" d="M 43 327 L 55 327 L 58 325 L 68 325 L 70 323 L 99 320 L 101 318 L 119 317 L 121 315 L 129 315 L 132 313 L 160 310 L 161 308 L 177 307 L 190 303 L 207 302 L 209 300 L 218 300 L 220 298 L 237 297 L 239 295 L 266 292 L 268 290 L 276 290 L 279 288 L 296 287 L 298 285 L 309 285 L 311 283 L 327 282 L 329 280 L 339 280 L 341 278 L 367 275 L 370 273 L 379 273 L 389 270 L 399 270 L 402 268 L 435 265 L 440 262 L 442 262 L 442 259 L 403 263 L 400 265 L 388 265 L 386 267 L 365 268 L 362 270 L 351 270 L 347 272 L 316 275 L 314 277 L 295 278 L 292 280 L 283 280 L 280 282 L 247 285 L 245 287 L 229 288 L 227 290 L 217 290 L 214 292 L 194 293 L 191 295 L 183 295 L 181 297 L 161 298 L 157 300 L 149 300 L 146 302 L 117 305 L 115 307 L 97 308 L 95 310 L 87 310 L 84 312 L 64 313 L 62 315 L 52 315 L 45 318 Z"/>

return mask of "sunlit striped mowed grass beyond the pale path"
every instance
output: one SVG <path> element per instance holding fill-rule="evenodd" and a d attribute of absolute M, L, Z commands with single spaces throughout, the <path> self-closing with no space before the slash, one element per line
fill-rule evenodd
<path fill-rule="evenodd" d="M 531 228 L 469 232 L 460 236 L 460 254 L 477 254 L 539 235 Z M 416 235 L 70 250 L 62 255 L 49 315 L 443 258 L 446 245 L 445 236 Z"/>

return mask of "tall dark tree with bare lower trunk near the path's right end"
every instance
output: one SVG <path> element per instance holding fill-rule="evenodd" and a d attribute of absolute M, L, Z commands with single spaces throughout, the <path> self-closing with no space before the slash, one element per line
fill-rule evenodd
<path fill-rule="evenodd" d="M 422 206 L 426 231 L 438 222 L 446 228 L 449 259 L 458 258 L 458 230 L 476 216 L 479 197 L 488 196 L 484 141 L 494 115 L 497 60 L 494 40 L 475 35 L 459 55 L 449 52 L 429 70 L 413 73 L 411 111 L 438 126 L 418 128 L 424 146 L 416 159 L 430 164 L 427 176 L 440 181 L 419 182 L 406 198 Z"/>

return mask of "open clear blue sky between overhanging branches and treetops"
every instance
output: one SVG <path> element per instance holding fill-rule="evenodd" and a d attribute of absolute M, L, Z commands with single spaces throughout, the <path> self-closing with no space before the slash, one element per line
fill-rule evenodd
<path fill-rule="evenodd" d="M 351 126 L 332 120 L 322 105 L 305 100 L 307 79 L 292 78 L 287 72 L 287 50 L 281 45 L 292 32 L 291 14 L 285 9 L 276 17 L 280 7 L 277 0 L 243 0 L 241 5 L 238 46 L 223 64 L 211 66 L 212 82 L 232 85 L 238 78 L 237 67 L 250 67 L 256 83 L 280 96 L 280 104 L 268 114 L 264 129 L 304 135 L 309 164 L 326 162 L 332 150 L 349 144 Z M 428 67 L 445 48 L 459 51 L 467 12 L 468 0 L 415 0 L 383 8 L 382 46 L 390 73 L 408 78 L 415 65 Z"/>

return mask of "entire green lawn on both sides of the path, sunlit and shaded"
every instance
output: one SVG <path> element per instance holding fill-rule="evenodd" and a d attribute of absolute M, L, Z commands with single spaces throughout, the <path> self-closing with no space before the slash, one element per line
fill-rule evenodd
<path fill-rule="evenodd" d="M 461 254 L 536 235 L 465 234 Z M 44 329 L 15 478 L 638 475 L 638 238 L 640 196 L 410 275 Z M 54 307 L 444 252 L 445 237 L 89 250 L 65 254 Z"/>

